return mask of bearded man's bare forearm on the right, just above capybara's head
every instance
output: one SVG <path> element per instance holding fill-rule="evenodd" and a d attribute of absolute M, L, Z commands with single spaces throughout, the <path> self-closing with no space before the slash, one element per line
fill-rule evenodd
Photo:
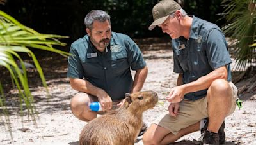
<path fill-rule="evenodd" d="M 148 74 L 147 66 L 145 66 L 143 69 L 139 69 L 136 71 L 131 93 L 139 92 L 142 89 L 145 83 L 145 80 L 147 78 L 147 74 Z"/>

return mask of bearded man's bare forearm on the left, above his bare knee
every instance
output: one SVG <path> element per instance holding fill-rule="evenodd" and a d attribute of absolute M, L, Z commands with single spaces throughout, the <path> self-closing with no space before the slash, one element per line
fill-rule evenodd
<path fill-rule="evenodd" d="M 70 85 L 74 90 L 86 92 L 97 97 L 99 97 L 101 91 L 104 91 L 101 88 L 93 86 L 89 81 L 79 78 L 70 78 Z"/>

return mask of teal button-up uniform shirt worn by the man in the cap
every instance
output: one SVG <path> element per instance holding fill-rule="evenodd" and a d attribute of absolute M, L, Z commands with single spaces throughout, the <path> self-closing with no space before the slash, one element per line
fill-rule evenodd
<path fill-rule="evenodd" d="M 231 81 L 230 55 L 225 35 L 221 29 L 210 22 L 193 15 L 189 39 L 183 36 L 172 39 L 174 54 L 174 72 L 182 73 L 183 83 L 196 81 L 218 69 L 227 66 L 228 79 Z M 207 89 L 187 93 L 184 98 L 197 100 L 205 97 Z"/>

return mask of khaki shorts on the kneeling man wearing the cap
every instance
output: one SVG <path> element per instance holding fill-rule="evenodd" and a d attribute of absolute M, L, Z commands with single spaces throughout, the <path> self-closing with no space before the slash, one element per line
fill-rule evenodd
<path fill-rule="evenodd" d="M 230 82 L 229 85 L 232 88 L 233 96 L 232 107 L 228 115 L 234 113 L 237 99 L 236 86 L 232 82 Z M 170 130 L 173 134 L 177 134 L 180 129 L 193 125 L 207 117 L 207 97 L 203 97 L 195 101 L 182 100 L 182 102 L 180 102 L 179 114 L 176 117 L 170 116 L 169 113 L 162 114 L 153 123 Z"/>

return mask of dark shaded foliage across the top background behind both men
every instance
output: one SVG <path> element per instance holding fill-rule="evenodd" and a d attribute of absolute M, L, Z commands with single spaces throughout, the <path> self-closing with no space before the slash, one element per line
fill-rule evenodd
<path fill-rule="evenodd" d="M 148 31 L 152 23 L 152 8 L 159 0 L 15 0 L 7 1 L 4 11 L 38 31 L 70 36 L 70 42 L 84 36 L 84 17 L 93 9 L 111 15 L 113 31 L 132 38 L 163 36 L 161 29 Z M 221 0 L 184 0 L 184 10 L 209 22 L 223 25 L 218 13 L 222 12 Z M 1 6 L 0 6 L 1 10 Z M 43 25 L 42 25 L 43 24 Z"/>

